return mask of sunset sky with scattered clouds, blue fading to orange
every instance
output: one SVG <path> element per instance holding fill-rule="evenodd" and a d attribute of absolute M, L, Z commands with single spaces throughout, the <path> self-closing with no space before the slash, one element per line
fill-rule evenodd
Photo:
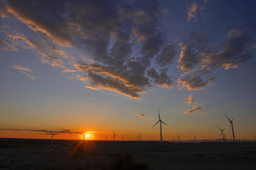
<path fill-rule="evenodd" d="M 0 1 L 0 137 L 254 139 L 254 0 Z"/>

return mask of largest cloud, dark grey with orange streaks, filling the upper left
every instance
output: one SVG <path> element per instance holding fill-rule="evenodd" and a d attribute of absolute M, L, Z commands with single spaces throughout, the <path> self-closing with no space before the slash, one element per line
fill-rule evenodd
<path fill-rule="evenodd" d="M 63 72 L 76 71 L 66 67 L 65 60 L 70 57 L 64 49 L 79 49 L 90 58 L 91 64 L 76 60 L 75 67 L 86 74 L 76 73 L 78 79 L 91 89 L 110 90 L 135 99 L 154 84 L 172 87 L 165 69 L 152 75 L 152 81 L 146 74 L 152 68 L 152 59 L 156 67 L 170 66 L 176 54 L 174 45 L 167 43 L 159 27 L 165 13 L 166 9 L 154 0 L 65 1 L 62 4 L 7 0 L 1 12 L 2 16 L 20 21 L 31 31 L 28 35 L 13 31 L 16 37 L 7 33 L 5 36 L 9 36 L 10 41 L 6 44 L 12 42 L 9 43 L 12 49 L 18 50 L 21 46 L 17 41 L 22 41 L 24 47 L 38 52 L 42 63 L 63 68 Z M 133 50 L 138 51 L 136 56 Z"/>

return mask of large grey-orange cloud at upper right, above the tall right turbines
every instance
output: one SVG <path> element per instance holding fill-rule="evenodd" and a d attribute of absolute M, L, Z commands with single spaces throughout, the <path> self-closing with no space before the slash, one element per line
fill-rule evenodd
<path fill-rule="evenodd" d="M 252 41 L 244 31 L 231 30 L 227 39 L 219 45 L 218 49 L 212 49 L 208 45 L 208 39 L 203 34 L 190 33 L 190 38 L 180 44 L 181 52 L 177 67 L 190 73 L 200 70 L 209 73 L 214 67 L 238 68 L 252 55 L 247 51 L 252 47 Z"/>

